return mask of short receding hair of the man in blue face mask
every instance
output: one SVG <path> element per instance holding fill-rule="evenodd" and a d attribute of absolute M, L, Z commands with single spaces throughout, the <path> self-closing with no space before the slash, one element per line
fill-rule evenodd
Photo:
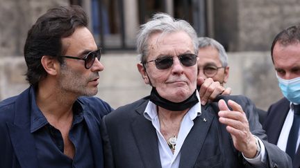
<path fill-rule="evenodd" d="M 271 56 L 272 56 L 273 63 L 274 63 L 273 50 L 277 42 L 283 46 L 300 43 L 300 25 L 294 25 L 285 28 L 284 30 L 279 32 L 278 35 L 276 35 L 271 46 Z"/>

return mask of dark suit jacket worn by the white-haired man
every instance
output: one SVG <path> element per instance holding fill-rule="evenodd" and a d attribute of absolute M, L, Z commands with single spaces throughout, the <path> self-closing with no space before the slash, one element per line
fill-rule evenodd
<path fill-rule="evenodd" d="M 255 106 L 246 97 L 219 96 L 231 99 L 243 107 L 253 134 L 265 140 L 267 137 L 258 122 Z M 217 99 L 218 100 L 218 99 Z M 156 129 L 144 118 L 149 97 L 122 106 L 103 118 L 101 133 L 104 145 L 105 167 L 159 168 L 160 156 Z M 226 126 L 219 123 L 217 102 L 201 106 L 201 115 L 194 120 L 183 147 L 179 167 L 251 167 L 235 149 Z M 203 120 L 206 118 L 206 121 Z M 267 149 L 267 164 L 263 167 L 289 167 L 290 158 L 276 145 L 263 141 Z"/>

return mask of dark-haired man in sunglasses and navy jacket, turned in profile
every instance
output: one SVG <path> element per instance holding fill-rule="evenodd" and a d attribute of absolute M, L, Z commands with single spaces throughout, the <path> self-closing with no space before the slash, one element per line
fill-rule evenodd
<path fill-rule="evenodd" d="M 30 83 L 0 103 L 0 167 L 103 167 L 99 124 L 112 111 L 97 97 L 101 49 L 79 6 L 58 7 L 28 31 Z"/>

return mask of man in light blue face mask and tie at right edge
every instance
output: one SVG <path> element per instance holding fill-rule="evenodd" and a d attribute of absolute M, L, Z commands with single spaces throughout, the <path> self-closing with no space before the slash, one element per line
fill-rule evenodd
<path fill-rule="evenodd" d="M 276 35 L 271 48 L 278 85 L 285 97 L 272 104 L 263 124 L 269 142 L 288 153 L 300 167 L 300 25 Z M 298 158 L 298 159 L 297 159 Z"/>

